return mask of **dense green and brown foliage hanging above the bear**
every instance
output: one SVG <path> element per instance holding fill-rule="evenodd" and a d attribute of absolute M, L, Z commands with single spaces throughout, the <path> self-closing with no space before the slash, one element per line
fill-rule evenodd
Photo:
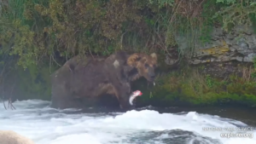
<path fill-rule="evenodd" d="M 19 56 L 18 64 L 24 68 L 45 59 L 55 61 L 56 52 L 65 59 L 79 54 L 110 55 L 116 49 L 171 55 L 177 34 L 188 35 L 202 27 L 201 40 L 207 41 L 213 14 L 226 8 L 215 0 L 1 2 L 1 44 L 10 55 Z"/>

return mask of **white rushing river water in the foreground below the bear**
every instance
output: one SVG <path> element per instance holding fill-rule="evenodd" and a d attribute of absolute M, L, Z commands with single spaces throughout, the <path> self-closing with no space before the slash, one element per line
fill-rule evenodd
<path fill-rule="evenodd" d="M 5 110 L 3 105 L 0 106 L 0 130 L 14 130 L 20 135 L 31 138 L 36 144 L 177 144 L 178 141 L 192 144 L 193 141 L 201 141 L 206 136 L 218 139 L 224 144 L 256 143 L 254 136 L 253 138 L 222 138 L 220 134 L 228 131 L 203 130 L 210 127 L 247 126 L 229 118 L 197 112 L 161 114 L 153 110 L 132 110 L 125 113 L 75 113 L 74 109 L 56 110 L 48 107 L 48 104 L 49 101 L 30 100 L 13 103 L 16 110 Z M 190 135 L 189 131 L 193 132 L 193 135 Z M 181 135 L 178 135 L 180 133 Z M 247 133 L 256 135 L 255 130 Z M 190 138 L 178 139 L 179 136 L 190 136 Z M 165 142 L 165 139 L 168 141 Z M 207 138 L 205 139 L 208 141 Z"/>

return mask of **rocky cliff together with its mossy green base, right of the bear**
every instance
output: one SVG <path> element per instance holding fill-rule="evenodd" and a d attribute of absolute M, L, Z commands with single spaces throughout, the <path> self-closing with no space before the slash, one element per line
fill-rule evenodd
<path fill-rule="evenodd" d="M 201 38 L 208 40 L 207 43 L 201 43 Z M 185 36 L 175 35 L 175 40 L 179 53 L 172 48 L 165 63 L 178 68 L 170 68 L 172 71 L 158 77 L 152 90 L 157 96 L 148 100 L 143 96 L 145 100 L 140 101 L 161 106 L 236 104 L 256 107 L 256 63 L 253 60 L 256 32 L 252 27 L 236 26 L 231 32 L 214 27 L 207 37 L 200 37 L 199 31 L 194 30 Z M 188 58 L 190 65 L 186 65 L 187 61 L 178 61 L 177 54 Z M 144 91 L 143 94 L 147 95 Z"/>

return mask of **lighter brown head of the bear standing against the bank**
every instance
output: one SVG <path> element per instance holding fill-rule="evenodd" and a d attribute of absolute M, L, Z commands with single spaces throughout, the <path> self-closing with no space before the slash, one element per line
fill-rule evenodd
<path fill-rule="evenodd" d="M 154 69 L 157 67 L 157 55 L 155 53 L 152 53 L 151 55 L 133 54 L 129 56 L 127 64 L 136 68 L 136 78 L 144 77 L 149 82 L 154 82 Z"/>

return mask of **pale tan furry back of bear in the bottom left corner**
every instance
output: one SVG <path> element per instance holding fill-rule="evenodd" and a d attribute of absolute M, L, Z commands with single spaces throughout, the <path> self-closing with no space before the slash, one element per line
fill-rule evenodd
<path fill-rule="evenodd" d="M 29 138 L 13 130 L 0 130 L 0 144 L 35 144 Z"/>

